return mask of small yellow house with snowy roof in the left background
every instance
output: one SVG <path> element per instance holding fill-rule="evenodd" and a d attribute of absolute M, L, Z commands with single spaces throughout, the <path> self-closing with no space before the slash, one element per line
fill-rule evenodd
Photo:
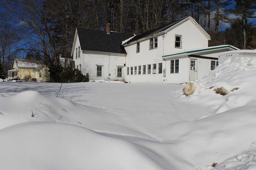
<path fill-rule="evenodd" d="M 15 59 L 13 69 L 8 70 L 8 80 L 24 80 L 26 78 L 40 81 L 50 80 L 48 67 L 42 64 L 42 61 Z"/>

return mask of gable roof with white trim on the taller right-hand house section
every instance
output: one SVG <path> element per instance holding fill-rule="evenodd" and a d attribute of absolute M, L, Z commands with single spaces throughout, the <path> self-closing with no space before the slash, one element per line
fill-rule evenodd
<path fill-rule="evenodd" d="M 166 31 L 167 29 L 169 29 L 169 28 L 173 27 L 174 25 L 181 23 L 182 21 L 185 21 L 185 20 L 192 21 L 192 23 L 194 23 L 196 25 L 196 27 L 208 38 L 208 40 L 210 40 L 210 35 L 208 35 L 208 33 L 206 33 L 206 31 L 191 16 L 188 16 L 188 17 L 181 18 L 180 20 L 172 21 L 172 22 L 170 22 L 166 25 L 163 25 L 161 27 L 146 31 L 144 33 L 140 33 L 140 34 L 134 36 L 132 39 L 126 41 L 126 43 L 124 43 L 123 45 L 129 44 L 129 43 L 139 40 L 139 39 L 143 39 L 143 38 L 155 35 L 162 31 Z"/>

